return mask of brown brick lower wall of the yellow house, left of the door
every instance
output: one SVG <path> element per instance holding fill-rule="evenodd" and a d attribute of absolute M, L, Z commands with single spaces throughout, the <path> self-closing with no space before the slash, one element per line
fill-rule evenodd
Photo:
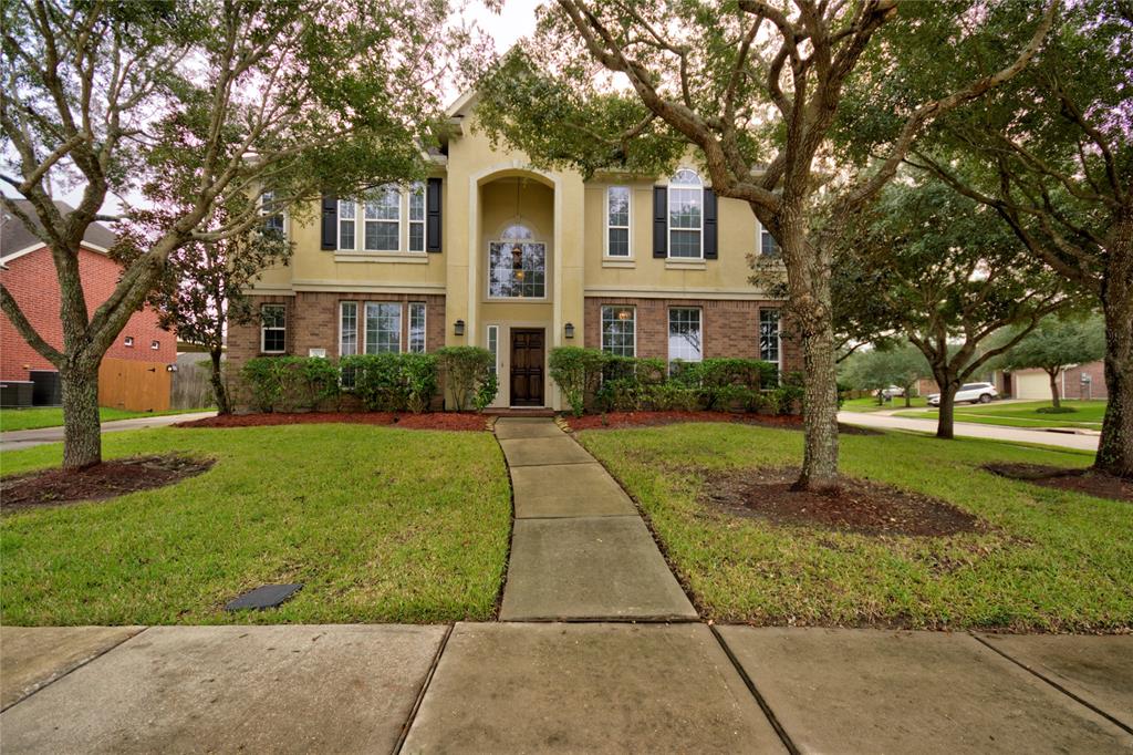
<path fill-rule="evenodd" d="M 286 354 L 307 356 L 310 349 L 326 349 L 326 356 L 339 355 L 339 304 L 357 302 L 359 332 L 364 329 L 363 306 L 366 302 L 401 303 L 401 347 L 409 342 L 409 303 L 425 304 L 425 349 L 435 351 L 444 346 L 444 297 L 410 294 L 351 294 L 299 291 L 295 296 L 253 296 L 258 311 L 264 304 L 283 304 L 286 311 Z M 259 322 L 232 325 L 228 331 L 228 357 L 231 368 L 239 370 L 248 359 L 262 356 Z M 360 347 L 360 343 L 359 343 Z"/>

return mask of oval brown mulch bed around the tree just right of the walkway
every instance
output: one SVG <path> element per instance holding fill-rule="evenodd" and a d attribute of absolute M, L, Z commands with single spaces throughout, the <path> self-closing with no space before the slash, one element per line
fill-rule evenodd
<path fill-rule="evenodd" d="M 705 480 L 701 501 L 738 517 L 864 535 L 944 536 L 987 529 L 979 517 L 929 495 L 844 477 L 832 492 L 793 491 L 794 469 L 738 469 Z"/>

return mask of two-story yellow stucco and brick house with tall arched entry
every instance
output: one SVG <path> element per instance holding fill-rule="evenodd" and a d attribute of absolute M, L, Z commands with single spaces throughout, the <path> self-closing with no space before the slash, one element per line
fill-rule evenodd
<path fill-rule="evenodd" d="M 450 109 L 425 183 L 279 221 L 295 255 L 249 291 L 261 320 L 231 329 L 235 366 L 474 345 L 496 358 L 494 407 L 556 409 L 560 346 L 801 367 L 782 302 L 748 281 L 748 255 L 777 249 L 747 203 L 717 197 L 691 161 L 661 178 L 535 169 L 474 128 L 475 104 Z"/>

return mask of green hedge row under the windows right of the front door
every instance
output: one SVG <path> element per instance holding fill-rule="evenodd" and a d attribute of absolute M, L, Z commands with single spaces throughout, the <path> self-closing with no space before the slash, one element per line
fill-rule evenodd
<path fill-rule="evenodd" d="M 800 410 L 798 375 L 780 380 L 777 367 L 759 359 L 678 362 L 619 357 L 598 349 L 551 351 L 551 376 L 571 412 L 731 410 L 793 414 Z"/>

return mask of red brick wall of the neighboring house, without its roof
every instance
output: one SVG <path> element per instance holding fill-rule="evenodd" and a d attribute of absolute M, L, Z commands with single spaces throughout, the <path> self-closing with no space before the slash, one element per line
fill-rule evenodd
<path fill-rule="evenodd" d="M 35 330 L 56 348 L 62 348 L 62 323 L 59 320 L 59 279 L 46 247 L 29 252 L 5 263 L 0 279 L 11 291 L 20 309 Z M 104 254 L 80 249 L 79 275 L 88 312 L 107 300 L 118 285 L 121 268 Z M 133 346 L 126 346 L 126 339 Z M 157 342 L 154 349 L 153 342 Z M 177 360 L 177 338 L 157 326 L 157 316 L 145 308 L 130 316 L 126 328 L 107 351 L 116 359 L 171 364 Z M 54 366 L 27 345 L 7 316 L 0 317 L 0 379 L 28 380 L 29 370 L 54 370 Z"/>

